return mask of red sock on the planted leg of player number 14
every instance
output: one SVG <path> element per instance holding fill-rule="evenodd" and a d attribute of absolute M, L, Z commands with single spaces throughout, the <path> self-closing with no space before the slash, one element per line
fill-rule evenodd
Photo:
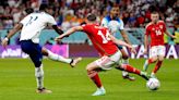
<path fill-rule="evenodd" d="M 102 87 L 102 83 L 100 83 L 100 78 L 97 74 L 96 71 L 91 71 L 88 72 L 88 77 L 95 83 L 95 85 L 100 88 Z"/>

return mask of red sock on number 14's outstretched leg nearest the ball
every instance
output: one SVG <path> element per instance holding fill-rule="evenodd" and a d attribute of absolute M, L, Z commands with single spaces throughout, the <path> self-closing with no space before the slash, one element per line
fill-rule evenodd
<path fill-rule="evenodd" d="M 138 70 L 138 68 L 135 68 L 135 67 L 133 67 L 133 66 L 131 66 L 131 65 L 122 65 L 123 66 L 123 68 L 127 71 L 127 72 L 130 72 L 130 73 L 134 73 L 134 74 L 138 74 L 138 75 L 140 75 L 141 74 L 141 71 L 140 70 Z"/>

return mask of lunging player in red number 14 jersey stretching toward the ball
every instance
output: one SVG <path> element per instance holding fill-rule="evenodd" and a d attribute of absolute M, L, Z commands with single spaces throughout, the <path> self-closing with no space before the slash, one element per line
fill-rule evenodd
<path fill-rule="evenodd" d="M 97 86 L 96 92 L 93 96 L 102 96 L 106 93 L 105 88 L 103 87 L 98 72 L 103 70 L 110 70 L 112 66 L 116 66 L 117 70 L 127 71 L 130 73 L 138 74 L 148 80 L 146 74 L 141 72 L 138 68 L 132 67 L 129 64 L 121 64 L 119 60 L 121 60 L 122 55 L 117 45 L 122 45 L 131 49 L 132 52 L 135 50 L 131 45 L 126 43 L 122 40 L 116 39 L 107 28 L 99 26 L 96 24 L 96 15 L 90 14 L 87 15 L 87 24 L 83 26 L 76 26 L 64 34 L 60 35 L 56 38 L 56 40 L 60 40 L 65 36 L 71 35 L 74 32 L 83 30 L 87 34 L 88 38 L 92 40 L 93 46 L 98 51 L 100 58 L 86 66 L 88 77 L 94 82 Z M 116 45 L 117 43 L 117 45 Z"/>

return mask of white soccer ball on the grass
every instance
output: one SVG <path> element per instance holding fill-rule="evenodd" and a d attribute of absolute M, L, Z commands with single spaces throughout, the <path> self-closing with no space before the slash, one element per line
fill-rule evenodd
<path fill-rule="evenodd" d="M 150 90 L 157 90 L 160 87 L 160 83 L 157 78 L 150 78 L 150 80 L 146 82 L 146 87 Z"/>

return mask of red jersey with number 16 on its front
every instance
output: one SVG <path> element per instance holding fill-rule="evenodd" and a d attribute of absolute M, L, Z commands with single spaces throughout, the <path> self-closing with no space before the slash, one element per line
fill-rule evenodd
<path fill-rule="evenodd" d="M 146 25 L 145 29 L 145 35 L 151 35 L 151 47 L 164 45 L 166 25 L 163 21 L 158 21 L 156 24 L 150 23 Z"/>

